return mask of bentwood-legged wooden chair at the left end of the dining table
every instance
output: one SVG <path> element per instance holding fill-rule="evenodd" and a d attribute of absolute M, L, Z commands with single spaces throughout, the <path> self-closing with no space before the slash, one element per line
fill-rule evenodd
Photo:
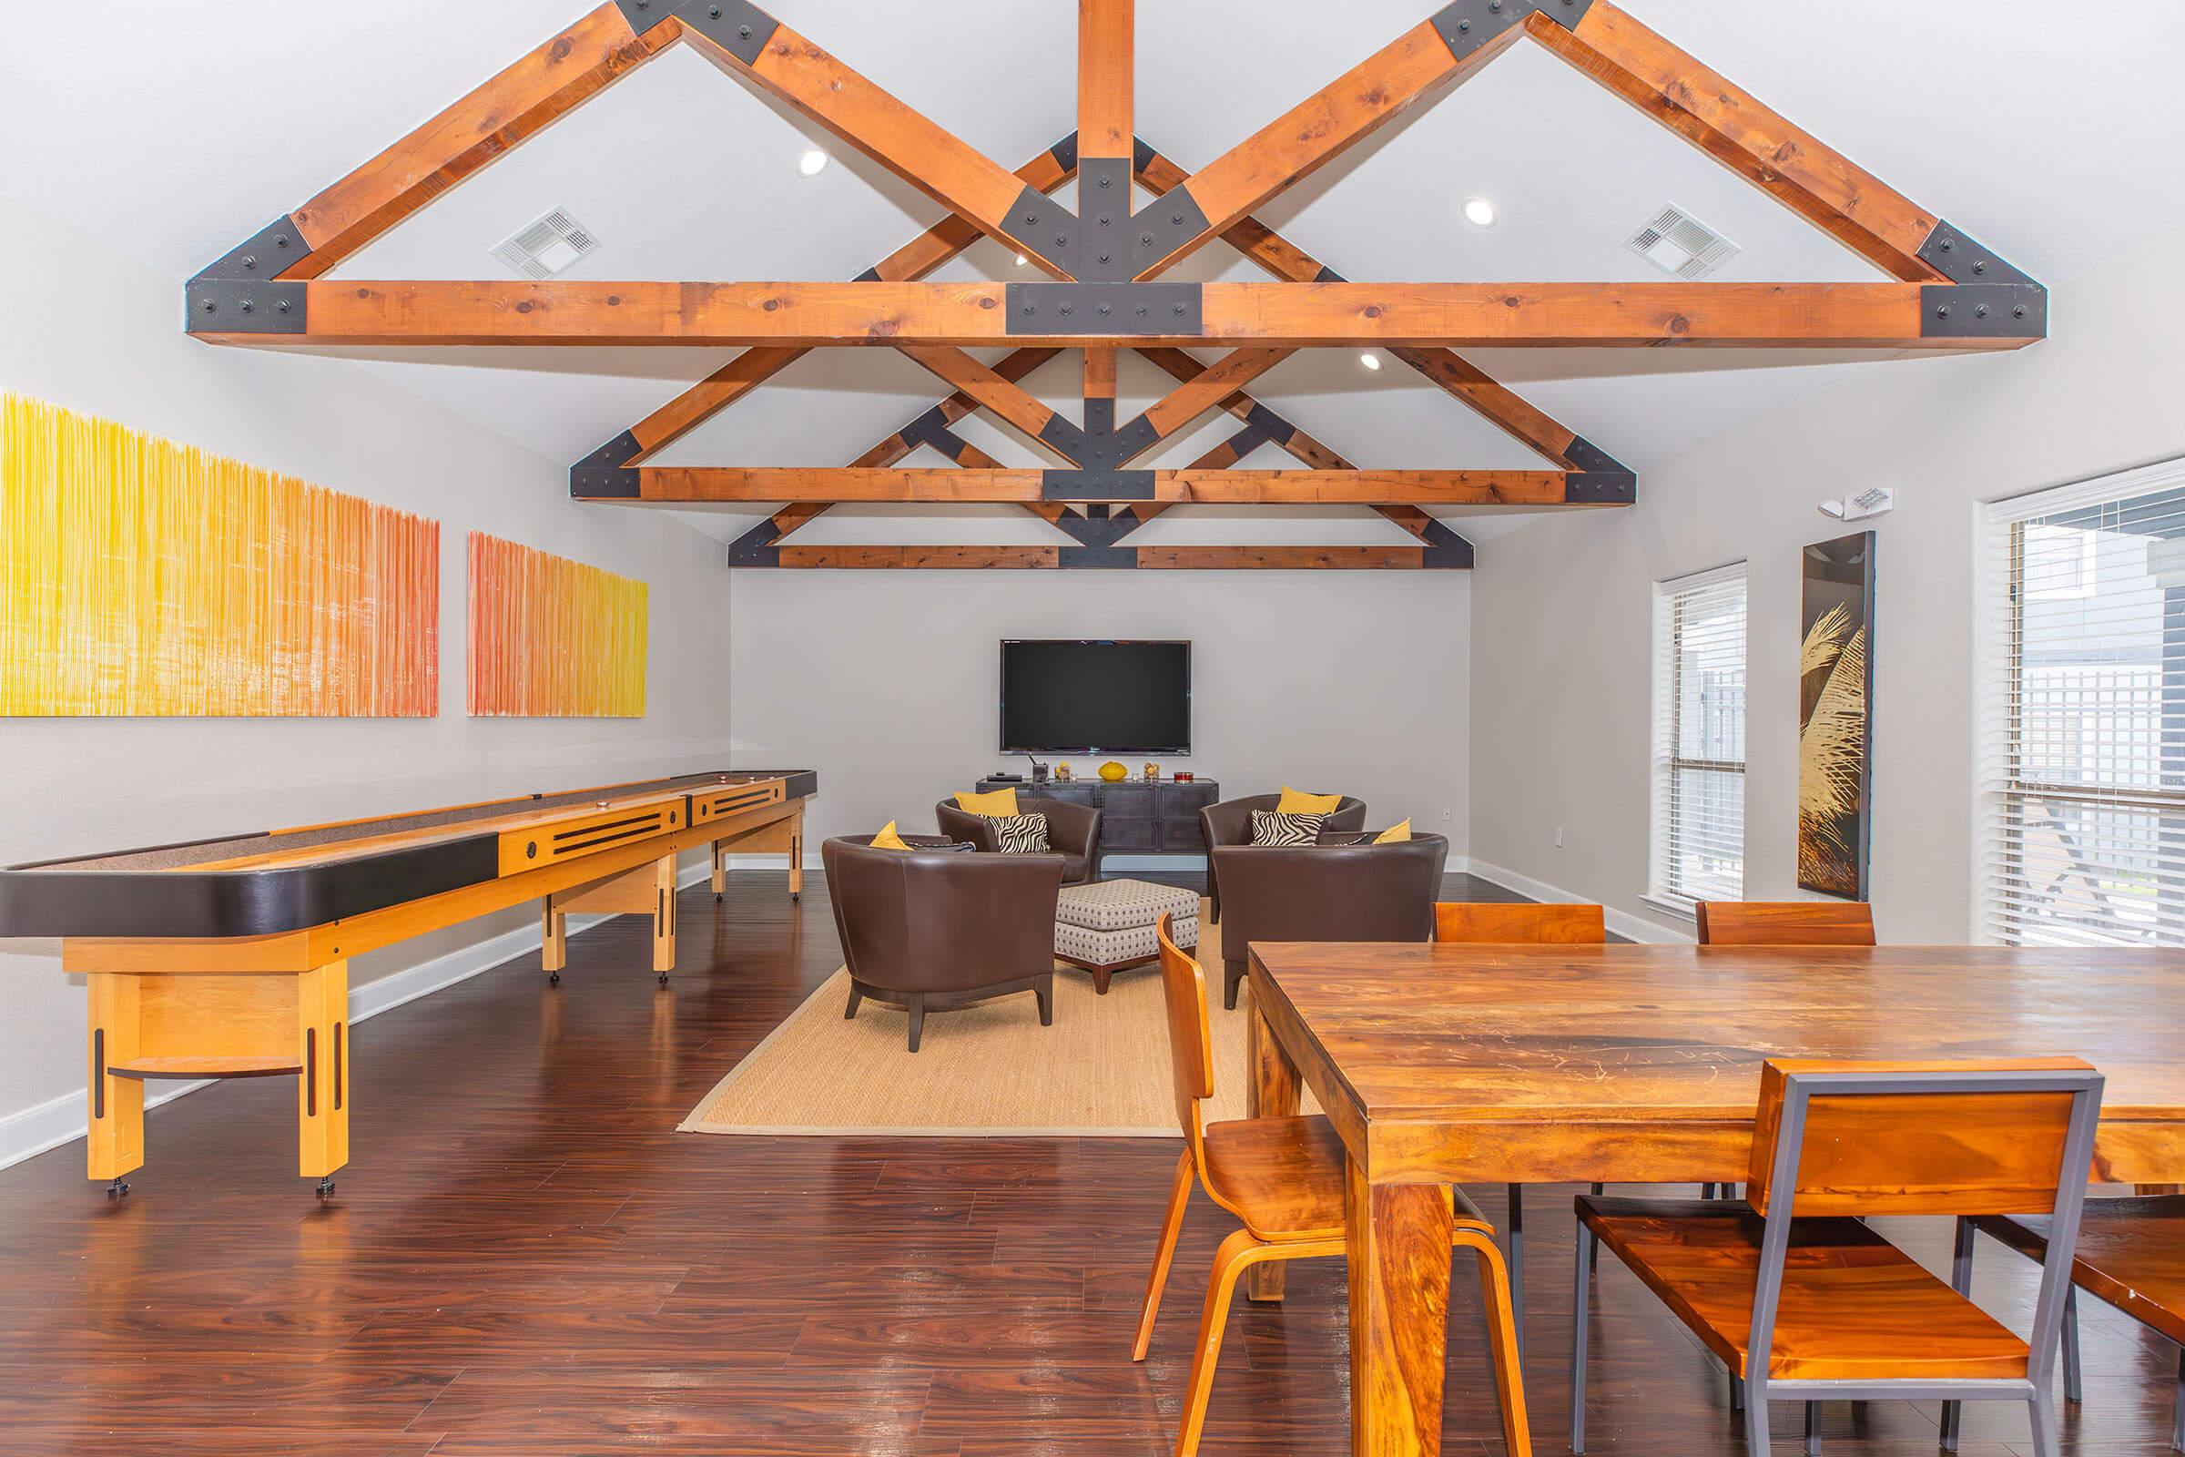
<path fill-rule="evenodd" d="M 1176 1184 L 1169 1188 L 1169 1212 L 1160 1221 L 1160 1247 L 1154 1252 L 1154 1274 L 1145 1282 L 1145 1308 L 1138 1315 L 1138 1339 L 1130 1359 L 1145 1361 L 1154 1339 L 1154 1317 L 1160 1291 L 1169 1282 L 1169 1260 L 1176 1236 L 1184 1228 L 1184 1206 L 1193 1180 L 1206 1197 L 1235 1215 L 1243 1225 L 1215 1252 L 1206 1306 L 1200 1311 L 1200 1343 L 1191 1352 L 1191 1383 L 1184 1391 L 1184 1422 L 1176 1440 L 1178 1457 L 1200 1448 L 1206 1426 L 1206 1398 L 1213 1394 L 1215 1359 L 1221 1354 L 1221 1330 L 1228 1324 L 1237 1276 L 1263 1260 L 1302 1260 L 1311 1256 L 1342 1258 L 1344 1239 L 1344 1140 L 1326 1118 L 1230 1118 L 1200 1121 L 1200 1103 L 1215 1092 L 1215 1046 L 1206 1022 L 1206 974 L 1200 963 L 1176 948 L 1171 917 L 1160 917 L 1160 992 L 1169 1016 L 1169 1073 L 1176 1083 L 1176 1121 L 1184 1129 L 1184 1151 L 1176 1160 Z M 1519 1374 L 1516 1326 L 1510 1311 L 1510 1280 L 1495 1228 L 1462 1191 L 1455 1201 L 1453 1247 L 1471 1249 L 1479 1263 L 1479 1284 L 1486 1295 L 1488 1335 L 1495 1348 L 1495 1389 L 1501 1400 L 1503 1444 L 1510 1457 L 1532 1457 L 1532 1429 L 1525 1422 L 1525 1387 Z"/>

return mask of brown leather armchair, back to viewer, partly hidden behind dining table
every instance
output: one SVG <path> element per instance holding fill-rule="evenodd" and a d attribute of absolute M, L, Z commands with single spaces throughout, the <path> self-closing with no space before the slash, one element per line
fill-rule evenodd
<path fill-rule="evenodd" d="M 1252 941 L 1431 941 L 1449 841 L 1390 845 L 1217 845 L 1228 887 L 1221 917 L 1221 1005 L 1237 1005 Z"/>

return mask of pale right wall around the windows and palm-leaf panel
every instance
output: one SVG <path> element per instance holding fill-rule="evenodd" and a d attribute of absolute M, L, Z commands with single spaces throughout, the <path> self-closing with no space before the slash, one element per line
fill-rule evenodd
<path fill-rule="evenodd" d="M 1873 900 L 1883 939 L 1973 935 L 1977 502 L 2185 452 L 2185 234 L 2052 284 L 2052 339 L 1877 365 L 1639 478 L 1630 511 L 1481 550 L 1473 858 L 1669 931 L 1650 911 L 1650 594 L 1750 561 L 1746 893 L 1796 896 L 1798 553 L 1824 498 L 1877 522 Z M 1564 848 L 1551 845 L 1564 828 Z"/>

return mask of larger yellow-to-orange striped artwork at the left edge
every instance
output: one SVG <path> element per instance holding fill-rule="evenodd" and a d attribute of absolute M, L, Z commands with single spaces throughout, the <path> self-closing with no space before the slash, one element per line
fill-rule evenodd
<path fill-rule="evenodd" d="M 0 395 L 0 714 L 439 712 L 439 522 Z"/>

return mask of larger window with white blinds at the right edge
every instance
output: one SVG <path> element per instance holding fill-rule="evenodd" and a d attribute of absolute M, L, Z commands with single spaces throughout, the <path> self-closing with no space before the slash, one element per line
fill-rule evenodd
<path fill-rule="evenodd" d="M 1982 933 L 2185 946 L 2185 463 L 1986 518 Z"/>

